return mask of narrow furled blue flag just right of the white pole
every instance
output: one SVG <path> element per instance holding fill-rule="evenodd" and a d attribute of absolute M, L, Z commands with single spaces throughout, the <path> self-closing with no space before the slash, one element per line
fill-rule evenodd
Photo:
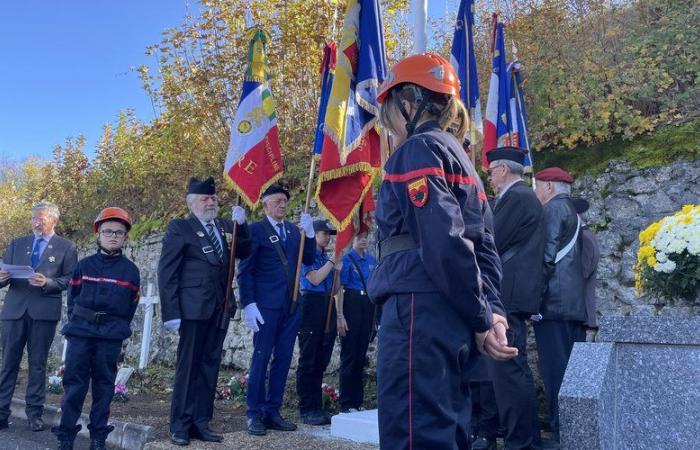
<path fill-rule="evenodd" d="M 481 102 L 479 101 L 479 75 L 474 54 L 474 0 L 461 0 L 455 34 L 452 38 L 450 62 L 460 82 L 460 97 L 469 111 L 474 125 L 483 133 Z"/>

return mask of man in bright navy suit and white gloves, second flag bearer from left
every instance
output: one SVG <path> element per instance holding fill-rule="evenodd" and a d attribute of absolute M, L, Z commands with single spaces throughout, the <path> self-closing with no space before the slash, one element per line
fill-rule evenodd
<path fill-rule="evenodd" d="M 268 429 L 296 430 L 280 415 L 301 317 L 301 308 L 291 308 L 291 301 L 301 239 L 306 239 L 302 255 L 306 265 L 314 262 L 316 240 L 308 214 L 302 213 L 300 220 L 305 237 L 285 220 L 288 202 L 289 192 L 280 185 L 263 192 L 265 217 L 251 224 L 250 256 L 241 261 L 238 271 L 243 317 L 255 333 L 247 395 L 248 433 L 255 436 L 265 435 Z"/>

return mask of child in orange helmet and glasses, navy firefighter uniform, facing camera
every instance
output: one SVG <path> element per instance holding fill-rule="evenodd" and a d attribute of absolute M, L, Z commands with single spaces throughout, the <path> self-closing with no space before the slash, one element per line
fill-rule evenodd
<path fill-rule="evenodd" d="M 77 425 L 92 381 L 90 450 L 105 449 L 109 404 L 114 396 L 117 360 L 122 342 L 131 336 L 131 320 L 139 299 L 139 270 L 122 255 L 131 218 L 121 208 L 103 209 L 92 226 L 97 253 L 78 262 L 68 289 L 68 339 L 63 377 L 61 423 L 52 431 L 59 450 L 71 450 Z"/>

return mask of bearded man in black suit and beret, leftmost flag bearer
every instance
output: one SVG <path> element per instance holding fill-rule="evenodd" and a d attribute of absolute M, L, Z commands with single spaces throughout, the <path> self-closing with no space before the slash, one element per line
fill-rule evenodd
<path fill-rule="evenodd" d="M 224 311 L 233 221 L 238 224 L 236 257 L 250 253 L 245 210 L 234 207 L 233 221 L 217 218 L 212 177 L 191 178 L 186 201 L 190 215 L 168 224 L 158 263 L 164 327 L 180 332 L 170 410 L 175 445 L 188 445 L 190 438 L 223 441 L 209 422 L 229 316 L 236 310 L 231 300 L 229 313 Z"/>

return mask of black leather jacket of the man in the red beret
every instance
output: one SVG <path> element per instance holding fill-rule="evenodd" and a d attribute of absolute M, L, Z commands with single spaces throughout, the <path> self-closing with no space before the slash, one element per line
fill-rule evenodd
<path fill-rule="evenodd" d="M 583 298 L 583 237 L 578 233 L 571 250 L 555 263 L 557 252 L 576 235 L 578 215 L 568 195 L 559 194 L 544 205 L 544 294 L 540 313 L 544 320 L 586 320 Z"/>

